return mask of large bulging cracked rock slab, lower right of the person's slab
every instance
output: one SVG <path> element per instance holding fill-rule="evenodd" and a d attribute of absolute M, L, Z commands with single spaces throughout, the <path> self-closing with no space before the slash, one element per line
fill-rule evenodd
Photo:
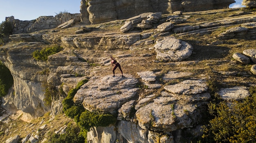
<path fill-rule="evenodd" d="M 141 128 L 154 132 L 191 128 L 202 120 L 200 110 L 205 110 L 203 107 L 207 106 L 210 99 L 209 93 L 177 95 L 161 92 L 158 97 L 150 95 L 140 99 L 135 106 L 136 117 Z"/>

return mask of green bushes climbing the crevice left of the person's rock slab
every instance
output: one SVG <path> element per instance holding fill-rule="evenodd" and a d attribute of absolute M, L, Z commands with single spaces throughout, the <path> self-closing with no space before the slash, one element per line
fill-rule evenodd
<path fill-rule="evenodd" d="M 64 113 L 67 117 L 74 119 L 74 121 L 79 125 L 81 129 L 80 134 L 85 139 L 90 127 L 106 127 L 112 123 L 115 123 L 117 120 L 117 117 L 112 114 L 105 114 L 99 111 L 90 112 L 85 110 L 81 104 L 74 103 L 74 95 L 86 82 L 88 82 L 87 79 L 80 81 L 76 88 L 73 88 L 68 92 L 67 97 L 62 102 Z"/>

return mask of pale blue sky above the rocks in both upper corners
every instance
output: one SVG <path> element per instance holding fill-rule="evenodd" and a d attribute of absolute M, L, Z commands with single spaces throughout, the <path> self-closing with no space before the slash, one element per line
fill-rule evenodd
<path fill-rule="evenodd" d="M 243 7 L 243 0 L 235 0 L 230 8 Z M 56 13 L 80 13 L 81 0 L 0 0 L 0 23 L 5 17 L 19 20 L 35 20 L 39 16 L 55 16 Z"/>

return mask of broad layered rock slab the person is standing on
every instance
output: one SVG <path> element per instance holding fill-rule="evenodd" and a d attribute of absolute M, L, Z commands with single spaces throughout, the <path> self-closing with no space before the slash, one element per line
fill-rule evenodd
<path fill-rule="evenodd" d="M 121 106 L 135 97 L 138 80 L 131 75 L 125 77 L 92 77 L 81 86 L 74 96 L 75 103 L 83 103 L 86 110 L 103 110 L 116 114 Z"/>

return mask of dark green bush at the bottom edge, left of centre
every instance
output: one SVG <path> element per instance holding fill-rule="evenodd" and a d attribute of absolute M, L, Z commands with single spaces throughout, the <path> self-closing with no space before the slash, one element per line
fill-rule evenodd
<path fill-rule="evenodd" d="M 80 134 L 80 128 L 77 125 L 69 123 L 64 134 L 52 134 L 48 143 L 84 143 L 85 139 Z"/>

